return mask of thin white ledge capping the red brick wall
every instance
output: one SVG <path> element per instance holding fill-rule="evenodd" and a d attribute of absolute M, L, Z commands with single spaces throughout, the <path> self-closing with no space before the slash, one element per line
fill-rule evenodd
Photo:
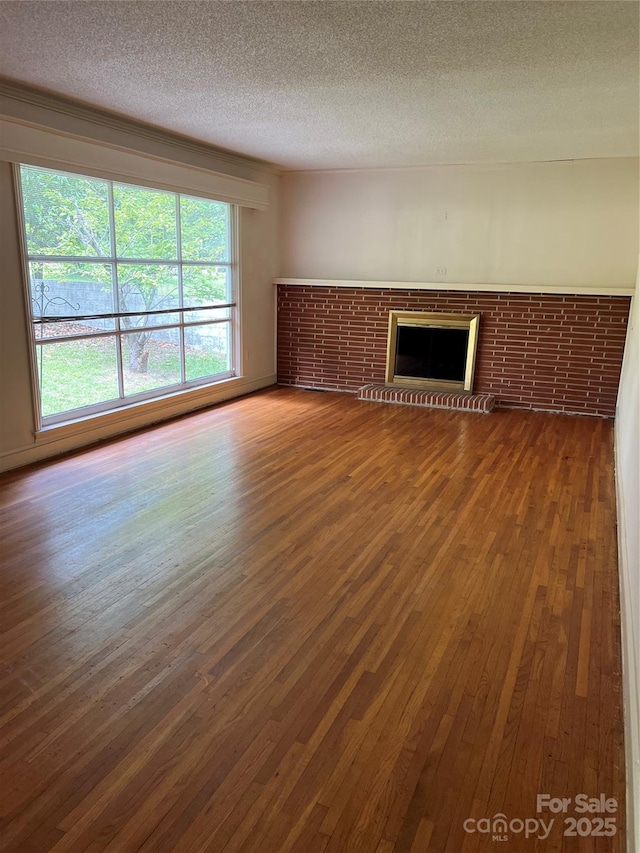
<path fill-rule="evenodd" d="M 300 287 L 352 287 L 368 290 L 454 290 L 467 293 L 544 293 L 556 296 L 633 296 L 635 286 L 608 287 L 590 284 L 494 284 L 451 281 L 355 281 L 330 278 L 274 278 L 273 284 Z"/>

